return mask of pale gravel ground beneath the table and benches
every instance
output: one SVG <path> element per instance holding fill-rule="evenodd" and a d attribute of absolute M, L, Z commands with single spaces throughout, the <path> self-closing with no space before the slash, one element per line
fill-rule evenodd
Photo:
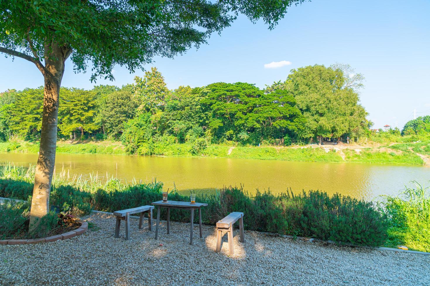
<path fill-rule="evenodd" d="M 0 285 L 429 285 L 430 256 L 324 246 L 288 238 L 234 233 L 215 253 L 215 229 L 203 227 L 189 245 L 189 224 L 160 227 L 154 240 L 131 220 L 131 240 L 114 238 L 114 217 L 87 217 L 96 227 L 44 244 L 0 245 Z M 147 225 L 146 225 L 147 226 Z"/>

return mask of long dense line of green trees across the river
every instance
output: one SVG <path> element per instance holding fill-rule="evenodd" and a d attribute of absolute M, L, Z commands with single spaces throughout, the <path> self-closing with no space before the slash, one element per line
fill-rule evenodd
<path fill-rule="evenodd" d="M 151 143 L 235 141 L 309 142 L 321 137 L 360 137 L 371 122 L 359 104 L 362 75 L 349 66 L 293 69 L 286 81 L 265 90 L 254 84 L 218 82 L 169 90 L 157 68 L 121 88 L 61 87 L 60 138 L 114 138 L 130 153 L 151 154 Z M 43 87 L 0 96 L 0 140 L 40 136 Z"/>

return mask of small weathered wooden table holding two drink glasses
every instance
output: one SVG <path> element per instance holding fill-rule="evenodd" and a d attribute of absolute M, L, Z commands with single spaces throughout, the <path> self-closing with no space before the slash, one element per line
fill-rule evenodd
<path fill-rule="evenodd" d="M 202 203 L 195 203 L 190 204 L 190 202 L 176 202 L 176 201 L 169 201 L 169 202 L 153 202 L 153 205 L 158 206 L 157 208 L 157 226 L 155 228 L 155 239 L 158 239 L 158 225 L 160 224 L 160 210 L 161 208 L 167 209 L 167 234 L 169 234 L 169 224 L 170 224 L 170 209 L 176 208 L 180 210 L 189 210 L 191 212 L 191 227 L 190 227 L 190 244 L 193 244 L 193 227 L 194 227 L 194 211 L 196 209 L 199 210 L 199 226 L 200 226 L 200 238 L 202 238 L 202 207 L 206 207 L 208 204 L 202 204 Z"/>

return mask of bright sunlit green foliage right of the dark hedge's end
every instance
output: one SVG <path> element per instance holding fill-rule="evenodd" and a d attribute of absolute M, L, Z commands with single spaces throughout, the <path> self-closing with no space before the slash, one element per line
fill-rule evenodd
<path fill-rule="evenodd" d="M 413 183 L 415 188 L 405 186 L 399 196 L 383 195 L 378 202 L 390 223 L 385 246 L 430 252 L 430 189 Z"/>

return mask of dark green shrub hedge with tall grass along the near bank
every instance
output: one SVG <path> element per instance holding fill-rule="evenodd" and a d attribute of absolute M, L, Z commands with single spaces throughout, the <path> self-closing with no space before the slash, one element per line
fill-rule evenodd
<path fill-rule="evenodd" d="M 34 168 L 1 165 L 0 196 L 29 199 L 33 178 Z M 91 209 L 112 212 L 160 200 L 162 189 L 160 182 L 122 184 L 115 178 L 102 182 L 96 177 L 68 180 L 62 172 L 53 180 L 49 202 L 52 208 L 71 214 L 85 214 Z M 189 197 L 174 190 L 169 199 L 188 201 Z M 244 226 L 249 230 L 371 246 L 382 245 L 387 237 L 385 215 L 372 203 L 349 196 L 328 196 L 318 191 L 280 195 L 257 192 L 250 196 L 243 189 L 229 187 L 216 195 L 197 196 L 197 202 L 208 203 L 202 211 L 202 220 L 211 225 L 232 211 L 241 211 L 245 216 Z M 163 210 L 162 218 L 165 216 Z M 172 212 L 170 219 L 187 222 L 189 212 Z"/>

